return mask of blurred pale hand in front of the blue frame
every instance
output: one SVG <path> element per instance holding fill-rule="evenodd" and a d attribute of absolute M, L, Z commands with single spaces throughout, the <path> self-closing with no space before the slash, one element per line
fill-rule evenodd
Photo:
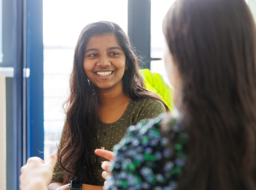
<path fill-rule="evenodd" d="M 52 172 L 56 162 L 56 155 L 52 154 L 47 162 L 41 158 L 28 158 L 27 163 L 21 167 L 21 190 L 45 190 L 51 182 Z"/>

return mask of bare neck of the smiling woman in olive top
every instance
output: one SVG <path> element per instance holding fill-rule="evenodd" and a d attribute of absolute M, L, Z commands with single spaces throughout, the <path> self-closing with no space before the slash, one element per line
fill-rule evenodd
<path fill-rule="evenodd" d="M 130 99 L 124 94 L 123 91 L 123 81 L 120 81 L 111 89 L 97 89 L 97 97 L 99 100 L 99 107 L 113 107 L 120 105 L 127 99 Z"/>

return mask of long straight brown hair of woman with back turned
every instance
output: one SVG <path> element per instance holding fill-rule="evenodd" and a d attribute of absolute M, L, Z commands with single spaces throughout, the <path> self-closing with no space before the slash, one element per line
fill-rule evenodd
<path fill-rule="evenodd" d="M 244 0 L 176 0 L 163 33 L 182 78 L 178 189 L 256 189 L 256 29 Z"/>

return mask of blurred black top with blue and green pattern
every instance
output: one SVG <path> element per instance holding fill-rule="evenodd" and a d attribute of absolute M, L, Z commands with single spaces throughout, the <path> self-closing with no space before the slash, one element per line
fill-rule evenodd
<path fill-rule="evenodd" d="M 129 127 L 114 147 L 113 176 L 104 190 L 176 189 L 186 165 L 186 141 L 183 127 L 172 116 Z"/>

